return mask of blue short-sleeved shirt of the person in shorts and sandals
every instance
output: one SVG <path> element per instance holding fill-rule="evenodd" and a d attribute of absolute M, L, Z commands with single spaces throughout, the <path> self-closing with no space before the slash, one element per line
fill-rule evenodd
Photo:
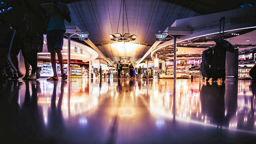
<path fill-rule="evenodd" d="M 67 4 L 59 1 L 57 4 L 55 4 L 55 6 L 57 6 L 64 15 L 70 14 Z M 66 31 L 64 23 L 65 19 L 59 12 L 49 13 L 48 15 L 50 16 L 50 21 L 47 30 L 63 29 L 64 31 Z"/>

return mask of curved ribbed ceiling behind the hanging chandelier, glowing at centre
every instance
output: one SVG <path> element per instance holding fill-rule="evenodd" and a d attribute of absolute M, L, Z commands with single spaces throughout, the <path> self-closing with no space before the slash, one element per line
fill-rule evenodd
<path fill-rule="evenodd" d="M 177 19 L 200 15 L 180 5 L 162 0 L 126 0 L 125 3 L 129 33 L 137 35 L 132 43 L 154 44 L 155 32 L 159 29 L 166 29 Z M 78 26 L 82 31 L 89 31 L 89 39 L 94 44 L 112 43 L 108 35 L 117 32 L 120 6 L 121 0 L 81 0 L 70 3 L 68 7 L 71 12 L 71 25 Z M 118 33 L 123 33 L 122 16 L 121 10 Z M 128 33 L 125 13 L 124 33 Z M 120 56 L 141 58 L 150 48 L 137 44 L 135 48 L 126 47 L 126 54 L 122 54 L 122 48 L 120 49 L 118 45 L 120 44 L 103 44 L 97 47 L 108 58 Z"/>

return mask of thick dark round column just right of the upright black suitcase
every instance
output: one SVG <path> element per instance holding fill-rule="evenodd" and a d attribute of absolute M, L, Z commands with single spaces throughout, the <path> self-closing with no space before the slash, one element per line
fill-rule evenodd
<path fill-rule="evenodd" d="M 238 49 L 226 54 L 226 78 L 238 78 Z"/>

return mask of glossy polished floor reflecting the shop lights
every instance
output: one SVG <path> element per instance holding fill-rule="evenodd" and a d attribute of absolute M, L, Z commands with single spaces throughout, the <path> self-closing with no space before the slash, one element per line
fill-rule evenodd
<path fill-rule="evenodd" d="M 1 85 L 0 143 L 256 140 L 256 84 L 250 81 L 74 78 Z"/>

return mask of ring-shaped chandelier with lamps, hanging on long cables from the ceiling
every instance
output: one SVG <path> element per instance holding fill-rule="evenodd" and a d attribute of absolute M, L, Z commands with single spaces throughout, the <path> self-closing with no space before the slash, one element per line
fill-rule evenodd
<path fill-rule="evenodd" d="M 119 21 L 120 21 L 122 4 L 123 4 L 123 34 L 120 34 L 120 33 L 118 33 L 118 27 L 119 27 Z M 128 33 L 124 33 L 124 9 L 125 9 Z M 130 35 L 130 33 L 129 33 L 125 0 L 121 0 L 120 13 L 119 13 L 119 19 L 118 19 L 118 25 L 117 25 L 116 34 L 115 35 L 110 34 L 109 37 L 111 38 L 110 40 L 117 41 L 117 42 L 134 41 L 136 39 L 136 37 L 137 37 L 136 35 Z"/>

